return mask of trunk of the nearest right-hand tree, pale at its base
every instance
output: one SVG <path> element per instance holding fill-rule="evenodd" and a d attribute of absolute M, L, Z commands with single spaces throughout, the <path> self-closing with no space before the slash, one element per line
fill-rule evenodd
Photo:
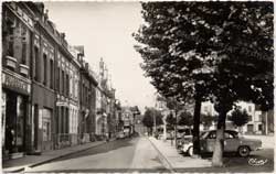
<path fill-rule="evenodd" d="M 219 115 L 212 166 L 223 166 L 224 130 L 226 113 L 226 111 L 222 111 Z"/>

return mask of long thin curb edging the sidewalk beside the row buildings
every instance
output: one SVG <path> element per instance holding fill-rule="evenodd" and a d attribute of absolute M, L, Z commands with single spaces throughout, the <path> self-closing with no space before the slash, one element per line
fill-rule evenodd
<path fill-rule="evenodd" d="M 114 140 L 112 140 L 112 141 L 114 141 Z M 26 167 L 35 167 L 35 166 L 39 166 L 39 165 L 42 165 L 42 164 L 52 162 L 52 161 L 54 161 L 54 160 L 57 160 L 57 159 L 61 159 L 61 157 L 71 155 L 71 154 L 79 153 L 79 152 L 86 151 L 86 150 L 88 150 L 88 149 L 93 149 L 93 148 L 103 145 L 103 144 L 105 144 L 105 143 L 107 143 L 107 142 L 104 141 L 103 143 L 99 143 L 99 144 L 96 144 L 96 145 L 93 145 L 93 146 L 88 146 L 88 148 L 85 148 L 85 149 L 82 149 L 82 150 L 78 150 L 78 151 L 68 152 L 68 153 L 65 153 L 65 154 L 62 154 L 62 155 L 59 155 L 59 156 L 55 156 L 55 157 L 52 157 L 52 159 L 49 159 L 49 160 L 44 160 L 44 161 L 34 163 L 34 164 L 31 164 L 31 165 L 25 165 L 25 166 L 23 166 L 23 167 L 17 168 L 17 170 L 14 170 L 14 171 L 7 171 L 7 172 L 2 171 L 2 172 L 3 172 L 3 173 L 18 173 L 18 172 L 23 172 L 23 171 L 25 171 Z M 3 168 L 2 168 L 2 170 L 3 170 Z"/>

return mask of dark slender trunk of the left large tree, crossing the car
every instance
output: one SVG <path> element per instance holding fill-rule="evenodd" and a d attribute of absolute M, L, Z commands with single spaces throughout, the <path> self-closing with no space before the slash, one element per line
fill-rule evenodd
<path fill-rule="evenodd" d="M 193 115 L 193 154 L 200 154 L 200 111 L 201 97 L 195 97 L 194 115 Z"/>

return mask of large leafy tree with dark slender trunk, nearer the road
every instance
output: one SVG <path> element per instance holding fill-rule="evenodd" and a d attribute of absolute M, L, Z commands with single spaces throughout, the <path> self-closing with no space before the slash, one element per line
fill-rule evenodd
<path fill-rule="evenodd" d="M 181 8 L 178 6 L 182 4 Z M 193 121 L 194 153 L 200 152 L 199 124 L 201 101 L 203 100 L 211 73 L 202 59 L 203 44 L 197 40 L 188 41 L 180 35 L 190 34 L 190 24 L 178 21 L 182 8 L 188 3 L 142 3 L 142 17 L 147 24 L 142 25 L 135 39 L 141 43 L 136 50 L 141 54 L 145 64 L 142 68 L 152 79 L 153 86 L 164 97 L 173 97 L 180 102 L 195 100 Z M 178 11 L 180 13 L 178 13 Z M 179 32 L 183 31 L 183 32 Z M 199 33 L 203 33 L 198 29 Z M 187 46 L 177 48 L 178 43 L 185 42 Z M 199 52 L 198 50 L 202 51 Z M 209 51 L 210 52 L 210 51 Z M 181 54 L 179 54 L 181 53 Z"/>

